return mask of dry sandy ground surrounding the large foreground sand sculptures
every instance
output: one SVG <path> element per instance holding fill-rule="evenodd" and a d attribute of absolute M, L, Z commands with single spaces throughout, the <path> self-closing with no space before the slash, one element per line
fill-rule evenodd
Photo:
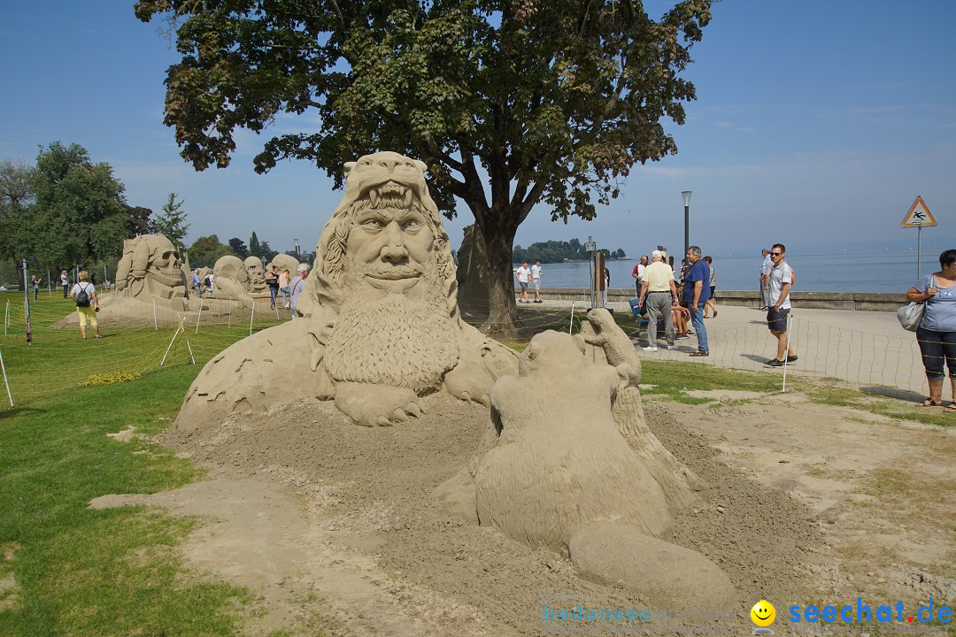
<path fill-rule="evenodd" d="M 762 598 L 777 606 L 778 633 L 795 604 L 954 605 L 956 428 L 793 395 L 709 397 L 645 410 L 711 487 L 709 502 L 675 516 L 675 541 L 737 586 L 724 626 L 746 634 Z M 430 493 L 471 457 L 488 415 L 446 396 L 425 408 L 417 422 L 364 429 L 306 399 L 191 436 L 170 430 L 163 443 L 209 466 L 206 481 L 93 504 L 206 516 L 185 554 L 209 577 L 256 592 L 268 612 L 250 619 L 250 634 L 530 635 L 554 626 L 542 605 L 641 608 L 578 579 L 562 556 L 443 513 Z"/>

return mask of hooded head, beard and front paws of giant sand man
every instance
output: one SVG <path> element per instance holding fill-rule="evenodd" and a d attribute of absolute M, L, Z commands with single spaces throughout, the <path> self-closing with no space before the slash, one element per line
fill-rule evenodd
<path fill-rule="evenodd" d="M 424 163 L 385 152 L 345 168 L 345 198 L 319 238 L 317 271 L 297 308 L 311 318 L 313 369 L 361 424 L 418 415 L 417 398 L 443 385 L 487 400 L 493 379 L 513 370 L 513 355 L 489 346 L 497 357 L 485 362 L 501 369 L 474 369 L 486 339 L 460 320 L 448 236 Z M 478 343 L 472 354 L 463 352 L 471 347 L 463 330 Z"/>

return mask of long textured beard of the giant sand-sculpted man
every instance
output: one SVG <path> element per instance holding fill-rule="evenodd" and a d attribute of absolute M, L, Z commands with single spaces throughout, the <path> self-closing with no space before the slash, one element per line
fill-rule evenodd
<path fill-rule="evenodd" d="M 425 287 L 422 301 L 410 301 L 401 292 L 372 302 L 360 299 L 356 290 L 370 285 L 363 275 L 377 267 L 351 265 L 346 273 L 343 288 L 349 291 L 323 355 L 325 370 L 340 382 L 434 391 L 458 363 L 458 329 L 448 316 L 438 267 L 404 265 L 423 273 L 416 284 Z"/>

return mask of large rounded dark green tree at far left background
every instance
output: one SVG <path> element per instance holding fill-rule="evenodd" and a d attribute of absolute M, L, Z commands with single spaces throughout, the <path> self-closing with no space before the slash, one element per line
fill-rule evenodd
<path fill-rule="evenodd" d="M 126 237 L 129 206 L 107 163 L 93 163 L 79 144 L 41 149 L 30 174 L 35 203 L 21 249 L 34 267 L 116 260 Z"/>

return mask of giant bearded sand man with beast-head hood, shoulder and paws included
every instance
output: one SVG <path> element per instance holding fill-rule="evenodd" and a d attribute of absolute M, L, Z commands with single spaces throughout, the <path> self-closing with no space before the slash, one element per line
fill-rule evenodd
<path fill-rule="evenodd" d="M 345 197 L 315 246 L 297 320 L 210 361 L 178 422 L 192 428 L 302 395 L 334 399 L 366 426 L 417 417 L 420 399 L 439 391 L 488 404 L 495 380 L 517 372 L 517 356 L 460 318 L 448 236 L 424 167 L 389 152 L 345 165 Z M 216 264 L 218 298 L 229 298 L 227 260 L 241 263 Z"/>

